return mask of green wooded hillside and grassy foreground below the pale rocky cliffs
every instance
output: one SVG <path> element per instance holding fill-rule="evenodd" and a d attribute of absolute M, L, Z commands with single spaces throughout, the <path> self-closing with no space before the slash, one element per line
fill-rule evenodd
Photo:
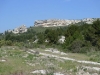
<path fill-rule="evenodd" d="M 0 74 L 99 75 L 100 20 L 0 34 Z"/>

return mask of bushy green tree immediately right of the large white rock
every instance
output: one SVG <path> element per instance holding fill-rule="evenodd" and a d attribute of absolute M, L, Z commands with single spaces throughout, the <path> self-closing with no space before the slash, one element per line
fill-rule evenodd
<path fill-rule="evenodd" d="M 76 39 L 83 39 L 82 34 L 80 33 L 79 26 L 71 25 L 67 28 L 65 32 L 65 45 L 69 46 Z"/>

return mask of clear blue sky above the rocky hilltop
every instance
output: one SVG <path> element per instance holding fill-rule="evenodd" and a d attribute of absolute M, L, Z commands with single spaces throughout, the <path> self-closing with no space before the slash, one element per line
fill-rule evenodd
<path fill-rule="evenodd" d="M 35 20 L 100 18 L 100 0 L 0 0 L 0 32 Z"/>

